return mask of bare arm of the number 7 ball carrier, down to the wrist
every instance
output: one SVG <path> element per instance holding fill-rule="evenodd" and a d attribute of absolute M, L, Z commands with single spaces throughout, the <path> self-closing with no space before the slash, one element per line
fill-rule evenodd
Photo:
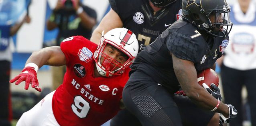
<path fill-rule="evenodd" d="M 175 75 L 185 94 L 198 106 L 207 110 L 213 110 L 217 106 L 218 100 L 197 83 L 197 72 L 193 62 L 182 60 L 173 54 L 172 57 Z M 219 102 L 218 109 L 215 111 L 227 116 L 229 114 L 228 110 L 225 104 Z"/>

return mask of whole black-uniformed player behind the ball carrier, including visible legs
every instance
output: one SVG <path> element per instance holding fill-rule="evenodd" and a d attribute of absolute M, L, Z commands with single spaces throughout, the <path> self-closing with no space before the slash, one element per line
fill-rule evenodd
<path fill-rule="evenodd" d="M 178 20 L 181 15 L 181 0 L 109 0 L 112 9 L 94 30 L 91 41 L 97 43 L 103 30 L 112 28 L 129 28 L 137 38 L 139 45 L 152 43 L 166 28 Z M 179 106 L 183 125 L 206 126 L 218 124 L 219 115 L 205 112 L 191 103 L 187 97 L 175 95 L 175 102 Z M 188 114 L 189 113 L 189 114 Z M 200 115 L 191 118 L 191 114 Z M 214 115 L 214 116 L 213 116 Z M 197 122 L 197 123 L 194 123 Z M 111 126 L 141 126 L 140 122 L 126 109 L 120 111 L 111 120 Z"/>

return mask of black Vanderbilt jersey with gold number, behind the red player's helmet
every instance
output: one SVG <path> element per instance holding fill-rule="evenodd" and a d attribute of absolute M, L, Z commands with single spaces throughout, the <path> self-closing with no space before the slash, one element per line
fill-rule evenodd
<path fill-rule="evenodd" d="M 121 18 L 124 28 L 131 30 L 139 45 L 152 43 L 175 22 L 181 9 L 181 0 L 154 14 L 148 0 L 109 0 L 111 8 Z"/>

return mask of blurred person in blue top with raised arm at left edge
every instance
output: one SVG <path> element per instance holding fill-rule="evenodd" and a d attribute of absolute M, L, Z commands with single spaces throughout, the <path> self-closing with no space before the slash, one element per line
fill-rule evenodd
<path fill-rule="evenodd" d="M 3 11 L 0 10 L 1 13 Z M 12 115 L 9 85 L 12 51 L 9 38 L 18 32 L 24 22 L 29 23 L 30 17 L 26 15 L 21 22 L 14 25 L 10 22 L 3 24 L 2 20 L 0 24 L 0 126 L 10 126 Z"/>

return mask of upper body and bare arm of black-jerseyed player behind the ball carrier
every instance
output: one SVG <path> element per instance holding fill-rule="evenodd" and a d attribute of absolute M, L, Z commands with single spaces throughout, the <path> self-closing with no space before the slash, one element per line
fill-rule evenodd
<path fill-rule="evenodd" d="M 134 32 L 139 45 L 152 43 L 179 18 L 181 0 L 109 0 L 111 9 L 95 28 L 91 41 L 98 43 L 102 31 L 125 27 Z"/>

